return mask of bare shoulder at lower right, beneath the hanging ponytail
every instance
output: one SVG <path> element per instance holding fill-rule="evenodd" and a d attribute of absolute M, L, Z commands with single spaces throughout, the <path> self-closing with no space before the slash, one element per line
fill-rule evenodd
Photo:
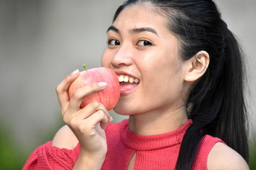
<path fill-rule="evenodd" d="M 247 170 L 249 169 L 245 159 L 238 152 L 225 145 L 223 142 L 217 142 L 210 149 L 207 167 L 209 170 L 214 169 L 232 169 L 232 170 Z"/>

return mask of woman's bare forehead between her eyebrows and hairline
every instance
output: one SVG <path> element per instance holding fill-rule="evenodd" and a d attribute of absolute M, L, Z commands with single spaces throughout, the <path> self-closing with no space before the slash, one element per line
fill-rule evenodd
<path fill-rule="evenodd" d="M 156 13 L 154 8 L 151 4 L 127 6 L 112 25 L 119 29 L 149 27 L 168 30 L 166 18 Z"/>

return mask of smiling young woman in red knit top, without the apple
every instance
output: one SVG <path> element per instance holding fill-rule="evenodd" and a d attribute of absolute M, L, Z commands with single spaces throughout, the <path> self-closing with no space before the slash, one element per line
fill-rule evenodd
<path fill-rule="evenodd" d="M 104 82 L 69 99 L 76 70 L 56 88 L 67 125 L 23 169 L 249 169 L 242 55 L 213 1 L 127 1 L 107 38 L 102 66 L 138 80 L 120 80 L 129 120 L 80 109 Z"/>

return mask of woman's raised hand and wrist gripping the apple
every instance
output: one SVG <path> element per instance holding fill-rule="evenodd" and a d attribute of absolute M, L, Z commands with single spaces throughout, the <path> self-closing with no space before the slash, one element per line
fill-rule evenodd
<path fill-rule="evenodd" d="M 90 164 L 93 162 L 103 163 L 107 153 L 104 129 L 107 123 L 112 121 L 112 118 L 105 106 L 97 101 L 93 101 L 82 109 L 80 104 L 82 103 L 82 98 L 105 89 L 107 84 L 104 82 L 90 84 L 74 91 L 73 96 L 69 98 L 68 87 L 78 76 L 78 71 L 73 72 L 65 77 L 56 88 L 61 114 L 63 115 L 64 122 L 80 142 L 81 151 L 77 163 L 89 161 Z"/>

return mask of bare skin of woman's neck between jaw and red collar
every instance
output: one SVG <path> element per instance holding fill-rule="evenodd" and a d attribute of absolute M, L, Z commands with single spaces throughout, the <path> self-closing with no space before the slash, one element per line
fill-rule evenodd
<path fill-rule="evenodd" d="M 129 116 L 129 130 L 138 135 L 158 135 L 180 128 L 188 121 L 186 108 Z"/>

